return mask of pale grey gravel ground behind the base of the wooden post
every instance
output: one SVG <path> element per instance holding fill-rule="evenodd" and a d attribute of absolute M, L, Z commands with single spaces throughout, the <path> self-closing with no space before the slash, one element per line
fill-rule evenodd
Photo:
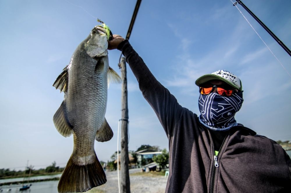
<path fill-rule="evenodd" d="M 141 169 L 129 170 L 130 192 L 131 193 L 164 193 L 166 189 L 167 178 L 156 175 L 136 175 Z M 132 175 L 133 174 L 133 175 Z M 117 172 L 107 172 L 107 182 L 101 186 L 95 187 L 88 193 L 107 193 L 118 192 Z"/>

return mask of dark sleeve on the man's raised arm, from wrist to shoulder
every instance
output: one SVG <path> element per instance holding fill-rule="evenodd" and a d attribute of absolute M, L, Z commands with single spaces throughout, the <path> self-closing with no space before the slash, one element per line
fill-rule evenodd
<path fill-rule="evenodd" d="M 182 106 L 176 98 L 152 75 L 143 59 L 134 51 L 126 39 L 118 45 L 132 72 L 134 73 L 143 97 L 148 101 L 162 123 L 168 138 L 172 136 L 175 123 L 182 116 Z"/>

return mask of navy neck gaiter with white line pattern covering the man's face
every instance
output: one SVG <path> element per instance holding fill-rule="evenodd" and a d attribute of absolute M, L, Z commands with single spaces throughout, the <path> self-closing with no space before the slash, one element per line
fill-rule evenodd
<path fill-rule="evenodd" d="M 235 113 L 242 107 L 242 92 L 223 97 L 215 92 L 200 94 L 198 105 L 199 121 L 212 130 L 228 130 L 237 125 Z"/>

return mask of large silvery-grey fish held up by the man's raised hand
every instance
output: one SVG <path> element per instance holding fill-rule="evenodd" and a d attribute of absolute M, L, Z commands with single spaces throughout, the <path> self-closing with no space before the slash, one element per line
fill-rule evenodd
<path fill-rule="evenodd" d="M 110 35 L 104 26 L 91 30 L 53 84 L 64 92 L 64 100 L 53 116 L 54 125 L 61 135 L 73 135 L 74 140 L 73 152 L 58 183 L 60 193 L 86 192 L 107 181 L 94 142 L 113 137 L 105 119 L 107 88 L 109 81 L 120 83 L 121 78 L 109 67 Z"/>

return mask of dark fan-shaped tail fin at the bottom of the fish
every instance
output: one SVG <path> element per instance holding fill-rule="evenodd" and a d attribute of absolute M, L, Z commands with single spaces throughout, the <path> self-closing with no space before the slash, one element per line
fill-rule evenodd
<path fill-rule="evenodd" d="M 106 175 L 96 154 L 95 161 L 87 165 L 77 165 L 70 157 L 58 183 L 58 192 L 86 192 L 106 183 Z"/>

